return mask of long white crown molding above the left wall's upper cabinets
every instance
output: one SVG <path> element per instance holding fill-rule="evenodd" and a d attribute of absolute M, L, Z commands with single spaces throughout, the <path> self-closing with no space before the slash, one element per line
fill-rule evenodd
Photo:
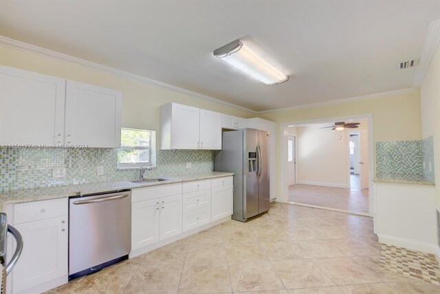
<path fill-rule="evenodd" d="M 35 45 L 31 45 L 31 44 L 28 44 L 28 43 L 17 41 L 17 40 L 14 40 L 12 38 L 7 38 L 5 36 L 0 36 L 0 45 L 3 45 L 5 47 L 10 47 L 12 49 L 18 49 L 18 50 L 21 50 L 23 52 L 30 52 L 32 54 L 36 54 L 36 55 L 39 55 L 39 56 L 50 57 L 50 58 L 55 58 L 55 59 L 58 59 L 58 60 L 67 61 L 69 63 L 74 63 L 76 65 L 82 65 L 83 67 L 89 67 L 89 68 L 93 68 L 93 69 L 98 69 L 100 71 L 106 71 L 106 72 L 108 72 L 110 74 L 115 74 L 117 76 L 122 76 L 122 77 L 128 78 L 130 80 L 136 80 L 138 82 L 144 82 L 146 84 L 153 84 L 154 86 L 160 87 L 160 88 L 163 88 L 163 89 L 168 89 L 168 90 L 173 90 L 173 91 L 177 91 L 177 92 L 181 92 L 181 93 L 186 93 L 188 95 L 193 95 L 193 96 L 196 96 L 198 98 L 210 100 L 212 102 L 217 102 L 217 103 L 223 104 L 223 105 L 232 106 L 232 107 L 235 107 L 237 109 L 242 109 L 244 111 L 249 111 L 250 113 L 259 113 L 258 111 L 254 111 L 252 109 L 248 109 L 246 107 L 239 106 L 239 105 L 236 105 L 236 104 L 233 104 L 233 103 L 230 103 L 230 102 L 225 102 L 225 101 L 219 100 L 217 98 L 212 98 L 212 97 L 210 97 L 208 95 L 203 95 L 201 93 L 197 93 L 197 92 L 190 91 L 190 90 L 187 90 L 187 89 L 183 89 L 183 88 L 180 88 L 180 87 L 175 87 L 173 85 L 166 84 L 164 82 L 159 82 L 159 81 L 153 80 L 151 78 L 145 78 L 145 77 L 139 76 L 137 74 L 131 74 L 128 71 L 122 71 L 121 69 L 115 69 L 113 67 L 107 67 L 105 65 L 100 65 L 98 63 L 93 63 L 93 62 L 88 61 L 88 60 L 84 60 L 84 59 L 77 58 L 77 57 L 74 57 L 74 56 L 69 56 L 67 54 L 63 54 L 63 53 L 60 53 L 60 52 L 55 52 L 55 51 L 52 51 L 50 49 L 45 49 L 45 48 L 42 48 L 42 47 L 38 47 L 38 46 L 35 46 Z"/>

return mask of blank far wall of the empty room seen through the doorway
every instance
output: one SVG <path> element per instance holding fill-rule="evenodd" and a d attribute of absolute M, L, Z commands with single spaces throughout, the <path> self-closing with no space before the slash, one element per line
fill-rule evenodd
<path fill-rule="evenodd" d="M 298 126 L 297 183 L 348 188 L 349 133 L 322 128 L 329 124 Z"/>

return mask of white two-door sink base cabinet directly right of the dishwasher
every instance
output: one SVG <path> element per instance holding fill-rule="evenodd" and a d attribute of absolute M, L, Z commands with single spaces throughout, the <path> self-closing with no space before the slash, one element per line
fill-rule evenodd
<path fill-rule="evenodd" d="M 181 234 L 181 183 L 137 188 L 131 195 L 132 251 Z"/>

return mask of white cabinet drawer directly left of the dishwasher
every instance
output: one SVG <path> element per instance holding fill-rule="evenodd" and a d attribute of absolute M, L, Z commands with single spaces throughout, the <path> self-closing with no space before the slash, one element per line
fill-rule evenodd
<path fill-rule="evenodd" d="M 14 205 L 14 224 L 67 216 L 67 198 L 33 201 Z"/>

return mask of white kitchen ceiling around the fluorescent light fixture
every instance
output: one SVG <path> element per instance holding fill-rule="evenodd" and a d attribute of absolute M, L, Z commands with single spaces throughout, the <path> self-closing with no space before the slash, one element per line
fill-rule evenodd
<path fill-rule="evenodd" d="M 412 87 L 440 1 L 1 0 L 0 35 L 263 111 Z M 290 80 L 212 56 L 245 38 Z"/>

